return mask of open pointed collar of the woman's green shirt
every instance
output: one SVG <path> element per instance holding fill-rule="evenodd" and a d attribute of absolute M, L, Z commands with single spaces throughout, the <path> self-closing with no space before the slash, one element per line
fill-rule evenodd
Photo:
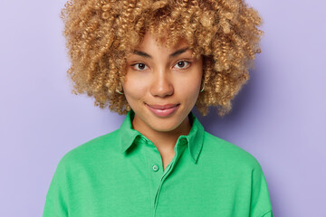
<path fill-rule="evenodd" d="M 129 146 L 133 144 L 136 137 L 144 137 L 139 133 L 139 131 L 135 130 L 132 127 L 132 119 L 134 116 L 134 111 L 130 110 L 120 126 L 121 153 L 124 153 L 129 148 Z M 189 113 L 188 117 L 190 123 L 192 123 L 190 132 L 187 136 L 180 136 L 178 140 L 182 138 L 187 139 L 190 155 L 192 156 L 194 163 L 196 163 L 204 142 L 204 127 L 192 112 Z"/>

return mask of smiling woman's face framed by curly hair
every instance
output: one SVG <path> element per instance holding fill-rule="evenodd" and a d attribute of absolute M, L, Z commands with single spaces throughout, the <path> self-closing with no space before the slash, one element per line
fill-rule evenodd
<path fill-rule="evenodd" d="M 127 57 L 126 71 L 123 91 L 135 112 L 135 128 L 168 132 L 187 121 L 197 101 L 203 73 L 202 58 L 192 57 L 187 42 L 167 49 L 146 33 L 135 52 Z"/>

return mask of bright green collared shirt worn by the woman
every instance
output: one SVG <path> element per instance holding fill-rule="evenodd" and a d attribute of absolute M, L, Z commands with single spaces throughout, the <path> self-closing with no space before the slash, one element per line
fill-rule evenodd
<path fill-rule="evenodd" d="M 192 112 L 191 130 L 162 169 L 157 147 L 132 128 L 119 129 L 62 157 L 43 217 L 271 217 L 264 173 L 254 156 L 204 130 Z"/>

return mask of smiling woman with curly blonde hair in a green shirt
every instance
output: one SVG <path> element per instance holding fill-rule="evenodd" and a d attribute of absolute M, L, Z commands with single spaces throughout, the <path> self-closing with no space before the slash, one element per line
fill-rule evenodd
<path fill-rule="evenodd" d="M 235 1 L 86 1 L 62 10 L 76 93 L 127 114 L 62 157 L 43 216 L 273 216 L 254 156 L 191 112 L 231 109 L 262 31 Z"/>

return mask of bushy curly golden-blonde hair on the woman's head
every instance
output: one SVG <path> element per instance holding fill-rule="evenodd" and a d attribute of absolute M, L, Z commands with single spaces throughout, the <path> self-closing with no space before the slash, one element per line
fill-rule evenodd
<path fill-rule="evenodd" d="M 93 96 L 95 105 L 126 114 L 121 90 L 126 57 L 149 31 L 167 47 L 185 39 L 193 55 L 203 56 L 202 86 L 196 107 L 219 116 L 249 79 L 260 52 L 262 18 L 243 0 L 72 0 L 62 8 L 63 35 L 72 65 L 72 92 Z"/>

